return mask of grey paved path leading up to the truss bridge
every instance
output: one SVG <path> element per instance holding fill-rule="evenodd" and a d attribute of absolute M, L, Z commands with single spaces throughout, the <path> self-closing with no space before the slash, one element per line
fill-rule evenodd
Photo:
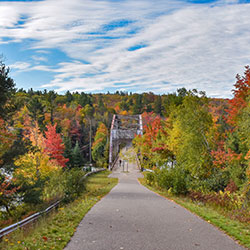
<path fill-rule="evenodd" d="M 79 224 L 66 250 L 245 249 L 186 209 L 144 186 L 135 164 Z"/>

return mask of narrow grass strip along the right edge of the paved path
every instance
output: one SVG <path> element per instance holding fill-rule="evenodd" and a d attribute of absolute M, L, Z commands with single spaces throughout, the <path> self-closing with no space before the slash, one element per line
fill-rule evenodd
<path fill-rule="evenodd" d="M 232 220 L 226 215 L 221 214 L 220 211 L 215 210 L 209 206 L 203 204 L 197 204 L 192 202 L 187 197 L 177 197 L 170 195 L 167 190 L 159 189 L 153 186 L 149 186 L 144 178 L 139 179 L 140 183 L 148 189 L 160 194 L 161 196 L 170 199 L 179 205 L 185 207 L 192 213 L 195 213 L 199 217 L 206 220 L 208 223 L 218 227 L 226 234 L 235 239 L 239 244 L 250 249 L 250 225 L 249 223 L 242 223 L 237 220 Z"/>

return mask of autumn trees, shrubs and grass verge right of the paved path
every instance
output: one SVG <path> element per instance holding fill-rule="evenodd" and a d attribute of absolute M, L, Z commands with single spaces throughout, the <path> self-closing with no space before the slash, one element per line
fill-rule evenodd
<path fill-rule="evenodd" d="M 143 114 L 144 134 L 134 139 L 134 146 L 141 165 L 151 170 L 147 186 L 249 247 L 249 67 L 237 75 L 234 86 L 231 100 L 211 101 L 192 90 L 170 105 L 166 117 Z"/>

